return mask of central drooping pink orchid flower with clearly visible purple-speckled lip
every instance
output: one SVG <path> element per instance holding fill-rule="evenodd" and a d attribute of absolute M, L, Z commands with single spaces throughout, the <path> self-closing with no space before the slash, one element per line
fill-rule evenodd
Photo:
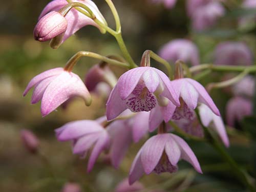
<path fill-rule="evenodd" d="M 169 78 L 152 67 L 138 67 L 121 75 L 106 103 L 106 117 L 112 120 L 125 109 L 132 112 L 151 111 L 157 103 L 166 105 L 179 99 Z"/>

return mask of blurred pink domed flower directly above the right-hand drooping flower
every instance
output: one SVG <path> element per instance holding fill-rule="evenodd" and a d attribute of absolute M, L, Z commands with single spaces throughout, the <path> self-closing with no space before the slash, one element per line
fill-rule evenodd
<path fill-rule="evenodd" d="M 176 62 L 178 59 L 199 65 L 199 53 L 197 46 L 186 39 L 175 39 L 165 44 L 159 51 L 159 55 L 165 60 Z"/>

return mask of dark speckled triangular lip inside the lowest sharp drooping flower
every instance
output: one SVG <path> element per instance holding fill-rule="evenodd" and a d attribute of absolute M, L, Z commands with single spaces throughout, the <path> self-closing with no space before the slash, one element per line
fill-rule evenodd
<path fill-rule="evenodd" d="M 158 162 L 157 166 L 154 169 L 156 174 L 161 174 L 164 172 L 174 173 L 177 172 L 178 166 L 172 165 L 169 162 L 168 157 L 165 152 L 163 152 L 160 161 Z"/>

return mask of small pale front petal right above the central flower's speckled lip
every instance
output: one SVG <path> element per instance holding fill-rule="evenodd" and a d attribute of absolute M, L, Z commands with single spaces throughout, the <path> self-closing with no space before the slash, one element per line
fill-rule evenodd
<path fill-rule="evenodd" d="M 143 73 L 142 78 L 148 91 L 155 92 L 160 83 L 159 75 L 150 68 Z"/>

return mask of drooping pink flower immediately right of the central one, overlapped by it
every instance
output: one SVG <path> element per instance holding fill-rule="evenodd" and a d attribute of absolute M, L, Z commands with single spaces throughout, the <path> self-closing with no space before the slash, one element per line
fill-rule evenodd
<path fill-rule="evenodd" d="M 189 122 L 186 123 L 190 124 L 195 118 L 194 110 L 198 103 L 206 104 L 212 112 L 220 116 L 214 101 L 199 82 L 190 78 L 180 78 L 173 80 L 171 84 L 178 97 L 182 99 L 181 105 L 178 107 L 168 102 L 166 106 L 157 106 L 153 109 L 150 115 L 150 131 L 154 131 L 163 120 L 168 122 L 171 119 L 179 121 L 187 119 Z"/>

